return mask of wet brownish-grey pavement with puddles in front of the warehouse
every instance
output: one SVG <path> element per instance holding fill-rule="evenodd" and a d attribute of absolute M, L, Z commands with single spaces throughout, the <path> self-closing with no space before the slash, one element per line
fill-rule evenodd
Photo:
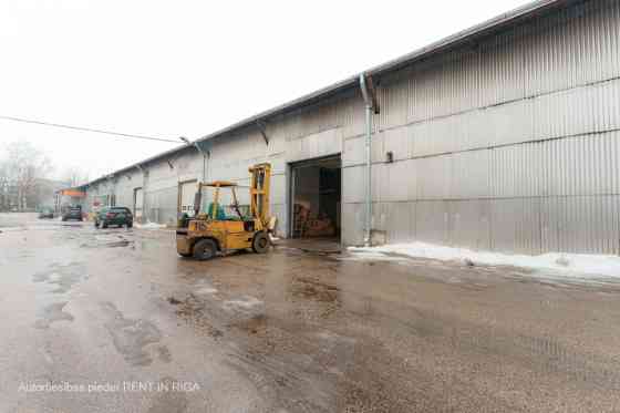
<path fill-rule="evenodd" d="M 610 279 L 285 241 L 197 262 L 172 231 L 32 215 L 0 231 L 0 412 L 620 411 Z"/>

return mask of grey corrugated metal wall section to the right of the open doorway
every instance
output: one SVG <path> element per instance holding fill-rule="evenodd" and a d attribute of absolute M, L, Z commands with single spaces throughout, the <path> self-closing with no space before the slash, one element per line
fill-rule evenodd
<path fill-rule="evenodd" d="M 619 39 L 620 2 L 588 1 L 382 79 L 373 228 L 388 242 L 619 254 Z M 360 244 L 363 138 L 343 148 L 343 238 Z"/>

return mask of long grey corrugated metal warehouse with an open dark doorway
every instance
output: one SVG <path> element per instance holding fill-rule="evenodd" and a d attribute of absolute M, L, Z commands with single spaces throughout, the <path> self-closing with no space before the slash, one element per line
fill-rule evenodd
<path fill-rule="evenodd" d="M 269 162 L 280 236 L 618 254 L 619 43 L 617 0 L 537 1 L 96 179 L 87 203 L 174 225 L 197 180 Z"/>

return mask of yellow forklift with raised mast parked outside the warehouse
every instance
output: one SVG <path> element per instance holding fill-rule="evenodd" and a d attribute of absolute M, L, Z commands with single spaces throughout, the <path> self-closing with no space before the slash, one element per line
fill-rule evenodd
<path fill-rule="evenodd" d="M 251 248 L 265 254 L 271 244 L 269 238 L 272 219 L 269 217 L 270 164 L 258 164 L 249 168 L 249 211 L 241 211 L 237 200 L 238 185 L 228 180 L 198 183 L 194 198 L 194 217 L 184 215 L 176 230 L 176 250 L 182 257 L 208 260 L 218 252 Z M 200 211 L 203 190 L 213 194 L 206 211 Z M 229 214 L 220 205 L 220 192 L 230 190 L 232 204 Z M 246 208 L 247 209 L 247 208 Z"/>

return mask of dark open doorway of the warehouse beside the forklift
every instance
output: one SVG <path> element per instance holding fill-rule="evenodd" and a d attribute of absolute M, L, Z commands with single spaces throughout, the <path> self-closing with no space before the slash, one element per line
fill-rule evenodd
<path fill-rule="evenodd" d="M 291 238 L 340 240 L 340 155 L 291 164 Z"/>

